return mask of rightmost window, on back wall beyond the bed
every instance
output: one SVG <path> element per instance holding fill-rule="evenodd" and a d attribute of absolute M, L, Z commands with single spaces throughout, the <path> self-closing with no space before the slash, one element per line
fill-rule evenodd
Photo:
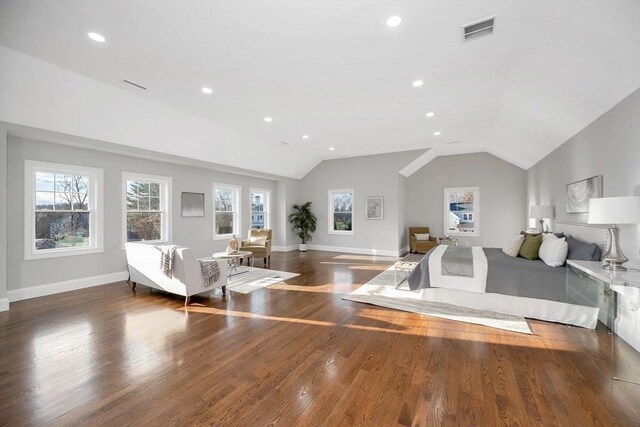
<path fill-rule="evenodd" d="M 444 189 L 445 236 L 478 236 L 478 187 Z"/>

